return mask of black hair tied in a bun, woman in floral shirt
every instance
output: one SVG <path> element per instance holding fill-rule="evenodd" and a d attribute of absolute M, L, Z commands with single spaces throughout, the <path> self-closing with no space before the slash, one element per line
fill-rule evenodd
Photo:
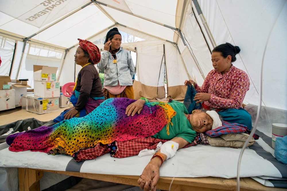
<path fill-rule="evenodd" d="M 238 46 L 233 46 L 232 44 L 226 42 L 225 44 L 220 44 L 216 46 L 212 52 L 221 52 L 221 56 L 226 58 L 228 55 L 231 56 L 231 62 L 236 61 L 235 55 L 240 52 L 240 48 Z"/>

